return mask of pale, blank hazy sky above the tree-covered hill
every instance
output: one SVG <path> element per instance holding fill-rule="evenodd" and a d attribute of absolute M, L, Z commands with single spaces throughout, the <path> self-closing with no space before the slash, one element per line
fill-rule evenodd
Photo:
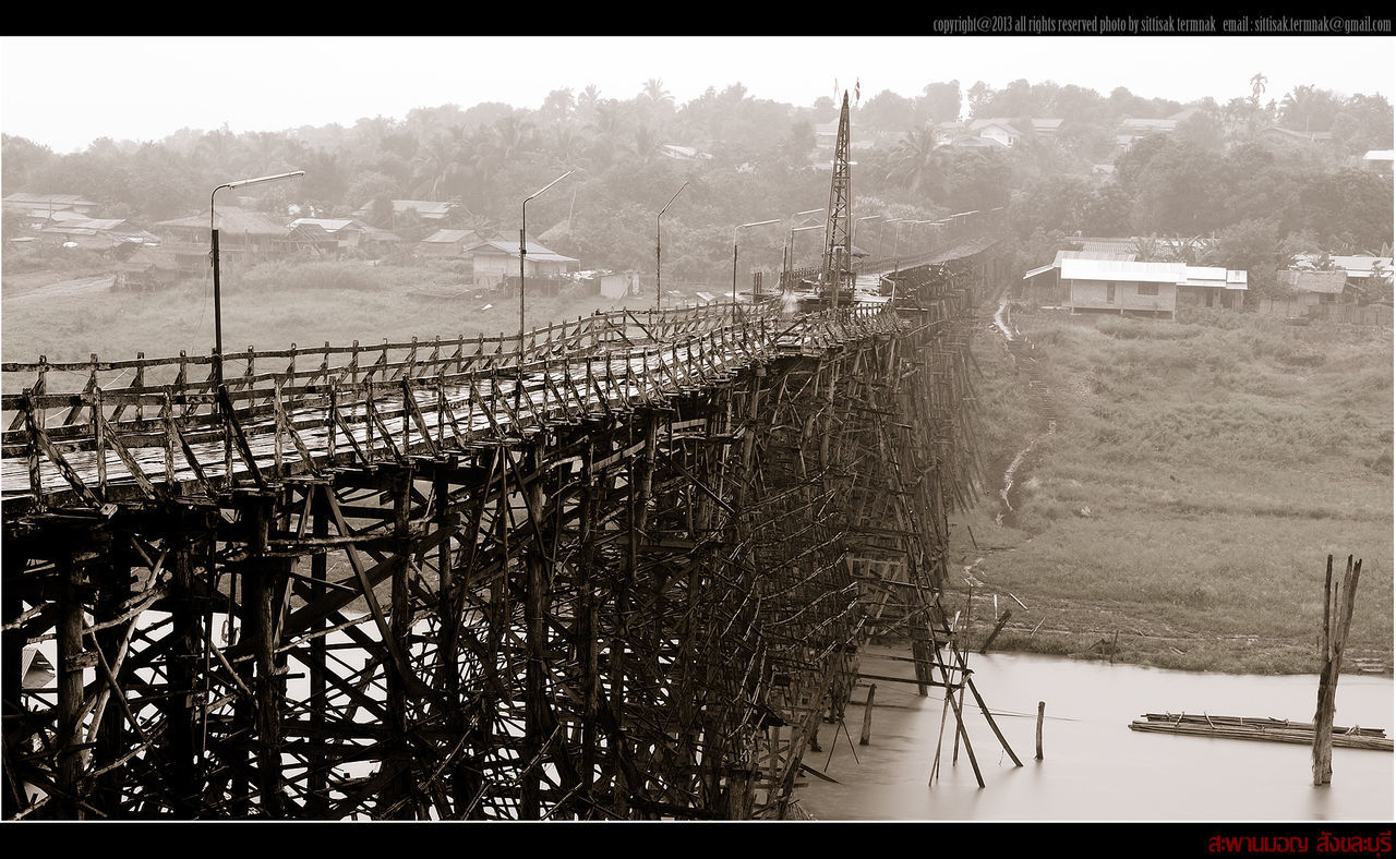
<path fill-rule="evenodd" d="M 1392 99 L 1390 36 L 4 36 L 0 131 L 56 152 L 99 137 L 158 141 L 403 119 L 415 107 L 554 89 L 630 99 L 658 78 L 683 105 L 712 86 L 797 106 L 852 91 L 916 96 L 928 82 L 1076 84 L 1107 95 L 1220 103 L 1268 78 Z"/>

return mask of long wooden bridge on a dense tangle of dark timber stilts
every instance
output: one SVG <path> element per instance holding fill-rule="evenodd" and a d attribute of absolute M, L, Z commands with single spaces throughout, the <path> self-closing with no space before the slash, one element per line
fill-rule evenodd
<path fill-rule="evenodd" d="M 229 354 L 223 388 L 4 364 L 4 817 L 789 816 L 860 643 L 965 675 L 983 262 L 898 279 Z"/>

